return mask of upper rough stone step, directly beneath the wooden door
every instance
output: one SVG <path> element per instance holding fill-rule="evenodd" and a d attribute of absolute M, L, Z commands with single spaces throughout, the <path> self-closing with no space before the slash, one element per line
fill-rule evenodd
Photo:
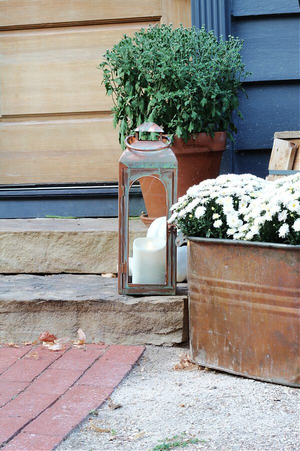
<path fill-rule="evenodd" d="M 130 219 L 129 241 L 146 228 Z M 0 219 L 1 274 L 115 273 L 117 218 Z"/>

